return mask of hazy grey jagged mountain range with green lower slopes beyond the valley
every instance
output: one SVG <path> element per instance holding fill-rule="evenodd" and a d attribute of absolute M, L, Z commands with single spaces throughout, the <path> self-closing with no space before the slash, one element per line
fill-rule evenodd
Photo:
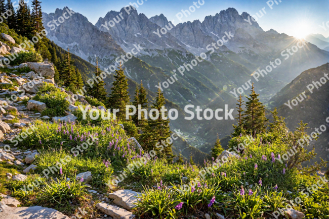
<path fill-rule="evenodd" d="M 185 115 L 183 108 L 186 104 L 212 109 L 224 108 L 224 104 L 228 104 L 229 108 L 235 108 L 236 96 L 230 91 L 245 86 L 249 80 L 255 82 L 261 100 L 267 103 L 301 72 L 323 65 L 329 58 L 328 51 L 310 42 L 301 42 L 273 29 L 264 31 L 250 19 L 248 13 L 239 15 L 234 8 L 207 16 L 202 22 L 195 20 L 176 26 L 163 14 L 147 18 L 142 13 L 138 14 L 136 9 L 130 14 L 124 9 L 110 11 L 95 25 L 76 12 L 52 30 L 48 24 L 53 24 L 53 20 L 62 16 L 65 10 L 43 13 L 44 26 L 51 40 L 64 49 L 69 47 L 73 54 L 92 64 L 96 63 L 97 57 L 101 69 L 117 66 L 115 59 L 139 45 L 141 51 L 124 63 L 130 83 L 136 87 L 143 81 L 150 96 L 154 96 L 156 86 L 177 73 L 178 79 L 163 92 L 168 104 L 179 109 L 181 116 Z M 111 27 L 110 24 L 115 25 Z M 161 28 L 167 33 L 162 34 Z M 222 46 L 216 45 L 224 36 L 228 41 Z M 298 43 L 303 43 L 304 47 L 285 61 L 281 52 Z M 215 48 L 214 45 L 218 49 L 212 52 L 209 48 Z M 186 70 L 184 76 L 178 73 L 180 66 L 190 64 L 202 52 L 207 57 L 201 63 L 190 71 Z M 256 81 L 253 74 L 276 59 L 280 59 L 282 64 Z M 113 77 L 105 81 L 110 92 Z M 131 97 L 134 89 L 130 88 Z M 243 94 L 249 93 L 249 90 Z M 217 135 L 220 138 L 229 135 L 233 123 L 180 118 L 172 121 L 171 127 L 172 130 L 179 129 L 188 144 L 202 149 L 202 146 L 215 142 Z"/>

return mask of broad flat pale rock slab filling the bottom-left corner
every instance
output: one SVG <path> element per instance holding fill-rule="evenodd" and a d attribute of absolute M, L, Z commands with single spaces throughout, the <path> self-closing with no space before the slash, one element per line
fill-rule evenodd
<path fill-rule="evenodd" d="M 58 210 L 33 206 L 33 207 L 9 207 L 1 206 L 0 219 L 70 219 Z"/>

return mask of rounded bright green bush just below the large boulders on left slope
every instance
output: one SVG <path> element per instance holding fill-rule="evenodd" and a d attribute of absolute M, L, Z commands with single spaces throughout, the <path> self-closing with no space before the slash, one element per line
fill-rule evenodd
<path fill-rule="evenodd" d="M 49 94 L 43 93 L 43 91 L 38 92 L 33 97 L 33 99 L 36 101 L 46 103 L 47 107 L 42 112 L 42 116 L 49 116 L 51 118 L 66 116 L 65 111 L 70 104 L 69 101 L 65 99 L 67 94 L 61 91 L 59 88 L 55 88 L 55 90 L 52 88 Z"/>

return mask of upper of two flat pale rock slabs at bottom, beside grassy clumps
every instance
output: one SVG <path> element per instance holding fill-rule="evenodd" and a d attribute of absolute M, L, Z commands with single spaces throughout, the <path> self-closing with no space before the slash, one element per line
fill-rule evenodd
<path fill-rule="evenodd" d="M 122 189 L 109 194 L 108 197 L 114 199 L 113 202 L 116 205 L 126 208 L 127 210 L 131 210 L 136 206 L 134 203 L 138 201 L 136 196 L 141 194 L 142 193 L 140 192 L 135 192 L 129 189 Z"/>

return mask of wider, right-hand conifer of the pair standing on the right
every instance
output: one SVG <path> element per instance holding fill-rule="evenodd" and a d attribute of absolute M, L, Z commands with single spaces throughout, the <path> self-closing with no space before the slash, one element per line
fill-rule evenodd
<path fill-rule="evenodd" d="M 266 119 L 265 106 L 259 101 L 259 94 L 254 90 L 254 83 L 251 89 L 252 93 L 246 98 L 248 101 L 245 103 L 246 109 L 245 113 L 242 114 L 243 117 L 243 128 L 247 132 L 263 132 L 266 129 Z"/>

